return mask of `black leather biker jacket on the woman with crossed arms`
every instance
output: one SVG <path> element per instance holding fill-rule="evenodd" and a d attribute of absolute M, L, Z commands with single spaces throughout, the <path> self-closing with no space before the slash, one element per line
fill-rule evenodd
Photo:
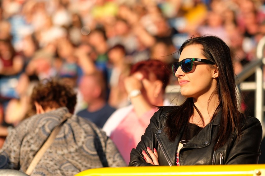
<path fill-rule="evenodd" d="M 150 120 L 146 132 L 136 149 L 131 151 L 129 166 L 149 166 L 143 159 L 146 147 L 156 148 L 160 165 L 176 165 L 175 156 L 181 134 L 170 142 L 165 133 L 165 122 L 174 115 L 174 106 L 158 110 Z M 221 122 L 221 113 L 207 124 L 179 151 L 179 165 L 257 164 L 261 154 L 262 127 L 257 118 L 247 117 L 242 124 L 240 138 L 236 132 L 230 134 L 226 144 L 216 151 L 216 135 Z M 225 133 L 225 131 L 224 131 Z M 147 153 L 147 151 L 146 151 Z M 147 153 L 148 154 L 148 153 Z M 151 157 L 150 157 L 151 158 Z"/>

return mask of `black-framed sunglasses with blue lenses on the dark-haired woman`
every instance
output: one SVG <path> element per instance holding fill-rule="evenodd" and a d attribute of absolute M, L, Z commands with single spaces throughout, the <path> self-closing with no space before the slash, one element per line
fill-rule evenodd
<path fill-rule="evenodd" d="M 208 59 L 198 59 L 198 58 L 186 58 L 183 59 L 180 62 L 174 62 L 172 64 L 172 71 L 173 71 L 173 75 L 175 76 L 176 71 L 178 70 L 179 66 L 181 68 L 181 70 L 185 73 L 189 72 L 192 70 L 192 65 L 193 65 L 193 61 L 198 61 L 198 62 L 203 62 L 203 63 L 207 63 L 207 64 L 215 64 L 212 61 L 209 61 Z"/>

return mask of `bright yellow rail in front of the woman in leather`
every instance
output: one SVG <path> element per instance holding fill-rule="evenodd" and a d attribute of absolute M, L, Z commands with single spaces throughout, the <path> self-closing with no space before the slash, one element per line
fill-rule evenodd
<path fill-rule="evenodd" d="M 75 176 L 114 176 L 114 175 L 263 175 L 265 164 L 258 165 L 196 165 L 196 166 L 148 166 L 148 167 L 120 167 L 98 168 L 82 171 Z"/>

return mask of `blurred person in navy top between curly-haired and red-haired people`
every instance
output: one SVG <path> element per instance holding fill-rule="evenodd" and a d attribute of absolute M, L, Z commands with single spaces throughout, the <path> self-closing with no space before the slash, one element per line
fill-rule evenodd
<path fill-rule="evenodd" d="M 101 72 L 82 76 L 79 90 L 87 107 L 77 112 L 77 115 L 102 128 L 115 109 L 107 103 L 106 83 Z"/>

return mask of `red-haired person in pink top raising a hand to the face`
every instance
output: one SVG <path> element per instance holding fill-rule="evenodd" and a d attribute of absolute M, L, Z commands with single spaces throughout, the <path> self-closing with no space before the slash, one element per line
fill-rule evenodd
<path fill-rule="evenodd" d="M 165 99 L 169 75 L 170 70 L 164 62 L 150 59 L 133 65 L 130 76 L 125 79 L 132 104 L 115 111 L 103 130 L 114 141 L 127 164 L 132 148 L 137 146 L 151 116 L 158 110 L 156 106 L 170 105 Z"/>

